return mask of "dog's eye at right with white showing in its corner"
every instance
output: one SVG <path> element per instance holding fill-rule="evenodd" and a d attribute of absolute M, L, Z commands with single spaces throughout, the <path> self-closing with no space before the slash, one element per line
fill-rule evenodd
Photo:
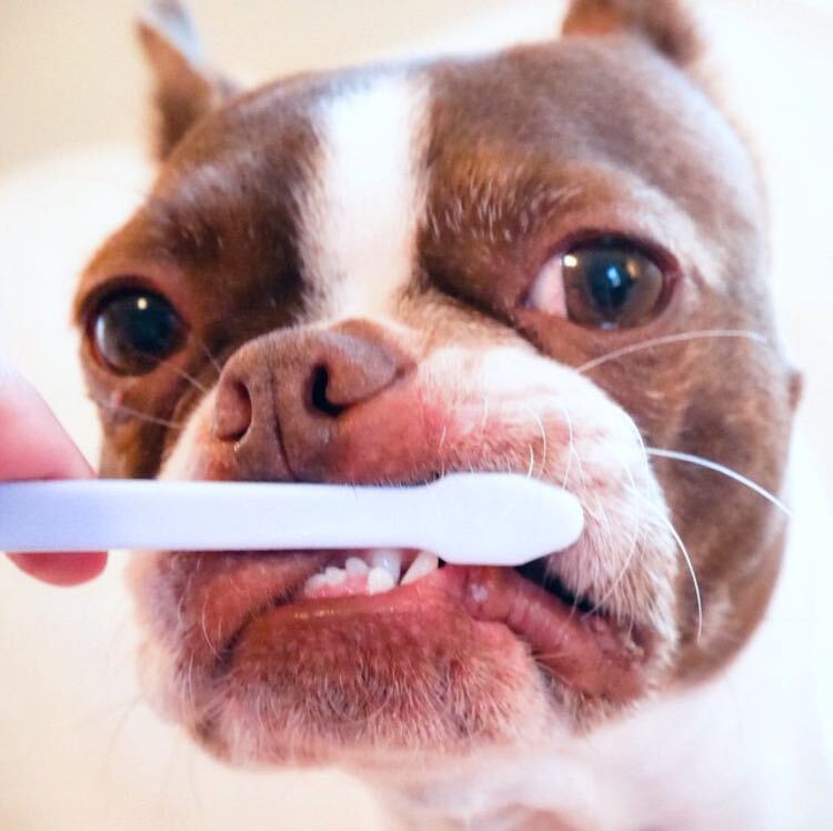
<path fill-rule="evenodd" d="M 666 286 L 663 269 L 639 246 L 602 237 L 549 260 L 526 303 L 585 327 L 635 327 L 659 312 Z"/>

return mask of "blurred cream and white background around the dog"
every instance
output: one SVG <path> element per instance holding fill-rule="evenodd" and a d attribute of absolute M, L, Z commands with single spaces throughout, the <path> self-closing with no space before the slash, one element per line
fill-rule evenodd
<path fill-rule="evenodd" d="M 800 433 L 833 474 L 833 0 L 701 0 L 714 79 L 766 171 L 782 331 L 807 377 Z M 217 67 L 257 82 L 556 29 L 559 0 L 191 0 Z M 147 76 L 132 0 L 0 0 L 0 360 L 84 451 L 97 434 L 67 323 L 74 276 L 140 199 Z M 392 828 L 341 774 L 215 765 L 139 700 L 119 558 L 58 591 L 0 560 L 0 828 Z"/>

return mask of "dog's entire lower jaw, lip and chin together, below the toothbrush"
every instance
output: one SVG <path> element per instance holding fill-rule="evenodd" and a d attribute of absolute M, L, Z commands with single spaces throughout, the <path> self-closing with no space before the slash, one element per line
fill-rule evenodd
<path fill-rule="evenodd" d="M 304 597 L 310 574 L 340 557 L 136 557 L 159 709 L 234 764 L 383 773 L 538 749 L 662 681 L 655 632 L 512 569 L 445 565 L 380 594 Z"/>

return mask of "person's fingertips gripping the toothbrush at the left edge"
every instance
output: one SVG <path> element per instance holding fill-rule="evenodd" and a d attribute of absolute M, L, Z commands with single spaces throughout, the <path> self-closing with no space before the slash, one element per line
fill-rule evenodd
<path fill-rule="evenodd" d="M 92 468 L 47 402 L 26 379 L 0 364 L 0 481 L 91 477 Z M 56 585 L 92 580 L 107 564 L 104 551 L 9 558 L 28 574 Z"/>

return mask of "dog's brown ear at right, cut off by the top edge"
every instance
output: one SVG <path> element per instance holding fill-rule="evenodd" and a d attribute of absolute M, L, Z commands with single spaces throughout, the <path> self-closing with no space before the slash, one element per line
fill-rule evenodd
<path fill-rule="evenodd" d="M 700 37 L 685 0 L 572 0 L 562 33 L 630 32 L 683 67 L 700 54 Z"/>

